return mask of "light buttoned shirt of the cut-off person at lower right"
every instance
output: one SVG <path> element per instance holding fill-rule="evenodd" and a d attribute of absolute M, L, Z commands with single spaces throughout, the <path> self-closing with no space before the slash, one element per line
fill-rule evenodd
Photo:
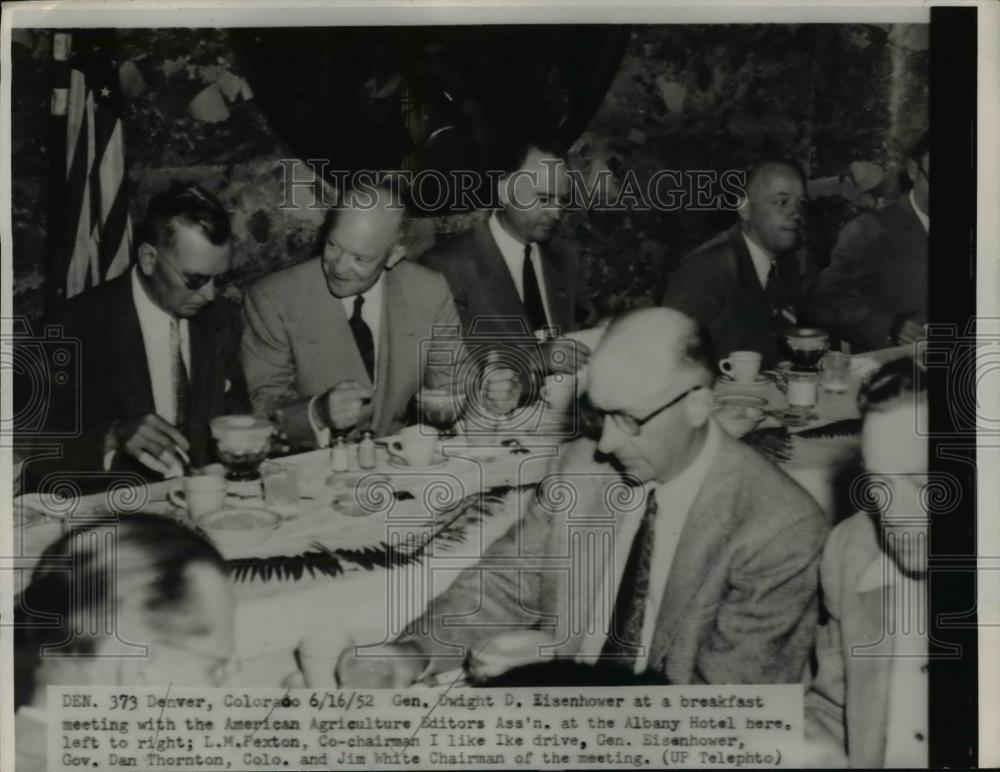
<path fill-rule="evenodd" d="M 927 582 L 903 575 L 882 553 L 859 577 L 859 593 L 881 590 L 892 640 L 885 767 L 926 769 L 928 763 Z M 886 656 L 886 655 L 883 655 Z"/>

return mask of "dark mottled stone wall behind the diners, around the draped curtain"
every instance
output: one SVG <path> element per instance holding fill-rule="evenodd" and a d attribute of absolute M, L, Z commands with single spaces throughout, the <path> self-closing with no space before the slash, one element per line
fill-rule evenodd
<path fill-rule="evenodd" d="M 631 171 L 644 186 L 661 169 L 789 155 L 811 181 L 808 249 L 821 265 L 849 217 L 899 193 L 901 154 L 926 127 L 927 40 L 926 25 L 638 27 L 571 161 L 584 178 L 607 169 L 620 186 Z M 233 213 L 241 283 L 308 257 L 321 212 L 279 209 L 277 160 L 291 154 L 228 34 L 122 30 L 119 45 L 133 222 L 169 180 L 195 179 Z M 32 319 L 45 280 L 50 57 L 49 32 L 14 31 L 14 309 Z M 477 216 L 421 221 L 413 254 Z M 611 313 L 656 302 L 681 257 L 732 219 L 689 208 L 589 211 L 562 227 L 587 260 L 599 311 Z"/>

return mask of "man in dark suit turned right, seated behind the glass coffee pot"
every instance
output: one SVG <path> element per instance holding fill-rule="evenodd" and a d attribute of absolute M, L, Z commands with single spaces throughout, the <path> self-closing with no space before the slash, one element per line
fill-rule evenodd
<path fill-rule="evenodd" d="M 757 161 L 747 170 L 737 223 L 685 257 L 670 277 L 663 305 L 702 324 L 720 356 L 757 351 L 765 366 L 782 358 L 782 332 L 798 323 L 801 308 L 795 249 L 805 203 L 797 164 Z"/>

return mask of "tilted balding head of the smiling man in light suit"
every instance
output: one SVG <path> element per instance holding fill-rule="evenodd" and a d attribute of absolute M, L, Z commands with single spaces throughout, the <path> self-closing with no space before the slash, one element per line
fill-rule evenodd
<path fill-rule="evenodd" d="M 339 298 L 367 291 L 402 259 L 405 209 L 385 187 L 349 188 L 324 223 L 323 272 Z"/>

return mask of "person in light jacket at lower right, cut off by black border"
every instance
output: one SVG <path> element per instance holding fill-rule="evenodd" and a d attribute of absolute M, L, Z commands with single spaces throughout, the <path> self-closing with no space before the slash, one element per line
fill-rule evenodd
<path fill-rule="evenodd" d="M 913 360 L 875 373 L 861 405 L 861 450 L 876 488 L 869 498 L 883 506 L 842 522 L 823 551 L 828 618 L 816 634 L 818 669 L 806 695 L 805 761 L 916 769 L 928 763 L 920 621 L 927 619 L 930 522 L 922 493 L 927 394 Z"/>

